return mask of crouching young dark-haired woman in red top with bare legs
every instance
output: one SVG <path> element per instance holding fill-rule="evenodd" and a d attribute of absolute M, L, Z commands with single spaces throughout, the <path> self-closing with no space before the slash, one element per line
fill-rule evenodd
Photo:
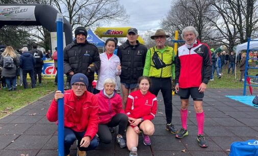
<path fill-rule="evenodd" d="M 151 145 L 150 137 L 154 133 L 154 119 L 157 111 L 157 98 L 149 92 L 151 80 L 141 76 L 138 79 L 139 90 L 130 93 L 127 98 L 125 113 L 129 126 L 126 130 L 126 144 L 128 150 L 138 145 L 138 134 L 142 131 L 144 144 Z"/>

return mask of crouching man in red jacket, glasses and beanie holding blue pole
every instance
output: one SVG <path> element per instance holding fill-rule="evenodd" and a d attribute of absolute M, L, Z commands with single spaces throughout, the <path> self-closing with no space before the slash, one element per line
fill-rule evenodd
<path fill-rule="evenodd" d="M 55 122 L 57 115 L 57 100 L 64 97 L 64 154 L 69 155 L 70 147 L 77 139 L 77 155 L 84 156 L 86 151 L 95 149 L 99 142 L 96 138 L 98 132 L 99 104 L 97 97 L 87 91 L 88 79 L 82 73 L 73 75 L 72 90 L 64 94 L 56 91 L 46 118 Z"/>

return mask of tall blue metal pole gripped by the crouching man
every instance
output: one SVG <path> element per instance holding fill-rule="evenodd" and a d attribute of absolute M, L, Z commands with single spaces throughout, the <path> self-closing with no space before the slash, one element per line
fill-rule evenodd
<path fill-rule="evenodd" d="M 57 14 L 57 89 L 62 93 L 63 90 L 63 15 Z M 64 100 L 58 99 L 58 155 L 64 156 Z"/>

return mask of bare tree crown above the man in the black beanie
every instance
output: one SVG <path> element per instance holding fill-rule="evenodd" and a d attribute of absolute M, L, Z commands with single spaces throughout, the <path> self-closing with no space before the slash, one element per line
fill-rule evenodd
<path fill-rule="evenodd" d="M 54 0 L 54 2 L 73 29 L 77 25 L 93 28 L 100 22 L 125 21 L 128 18 L 119 0 Z"/>

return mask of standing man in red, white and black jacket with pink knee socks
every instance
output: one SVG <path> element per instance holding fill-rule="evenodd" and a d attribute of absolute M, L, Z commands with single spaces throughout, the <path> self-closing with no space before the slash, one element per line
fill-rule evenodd
<path fill-rule="evenodd" d="M 194 99 L 194 108 L 198 126 L 197 141 L 201 147 L 207 147 L 207 141 L 203 136 L 204 113 L 202 109 L 202 98 L 209 77 L 212 74 L 212 63 L 210 50 L 207 44 L 197 40 L 198 32 L 194 27 L 186 27 L 181 37 L 185 44 L 178 48 L 176 57 L 176 86 L 175 90 L 181 99 L 181 122 L 182 128 L 176 134 L 176 138 L 183 138 L 187 132 L 187 108 L 189 97 Z"/>

